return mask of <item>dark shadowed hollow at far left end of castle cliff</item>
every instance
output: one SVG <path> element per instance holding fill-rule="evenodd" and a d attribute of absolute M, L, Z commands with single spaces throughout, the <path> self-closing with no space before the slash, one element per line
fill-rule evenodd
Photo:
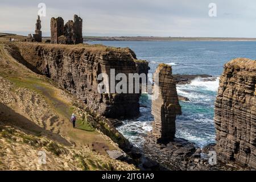
<path fill-rule="evenodd" d="M 16 47 L 14 44 L 9 43 L 8 46 L 10 47 L 9 53 L 13 58 L 18 61 L 19 63 L 23 64 L 25 67 L 30 69 L 32 72 L 35 72 L 36 74 L 43 75 L 42 72 L 40 72 L 38 69 L 34 67 L 31 63 L 28 63 L 24 59 L 24 57 L 20 54 L 19 48 Z"/>

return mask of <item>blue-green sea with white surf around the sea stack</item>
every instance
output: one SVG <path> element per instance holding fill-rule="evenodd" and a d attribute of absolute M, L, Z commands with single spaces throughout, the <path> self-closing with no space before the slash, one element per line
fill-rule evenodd
<path fill-rule="evenodd" d="M 149 61 L 150 73 L 159 63 L 172 65 L 174 74 L 207 74 L 217 77 L 216 81 L 196 78 L 187 85 L 177 85 L 177 92 L 189 98 L 180 101 L 182 115 L 176 119 L 176 137 L 195 142 L 204 147 L 215 142 L 214 101 L 218 89 L 218 77 L 229 60 L 237 57 L 256 59 L 256 42 L 143 42 L 143 41 L 102 41 L 86 42 L 114 47 L 129 47 L 138 59 Z M 123 121 L 118 130 L 135 146 L 142 148 L 144 137 L 152 130 L 151 101 L 143 94 L 140 102 L 141 117 Z"/>

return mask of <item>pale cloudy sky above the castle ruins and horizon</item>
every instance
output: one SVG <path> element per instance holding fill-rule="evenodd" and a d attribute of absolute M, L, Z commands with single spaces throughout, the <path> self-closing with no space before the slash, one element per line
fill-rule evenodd
<path fill-rule="evenodd" d="M 39 3 L 46 5 L 43 36 L 52 17 L 67 22 L 77 14 L 84 36 L 256 37 L 255 0 L 1 0 L 0 32 L 33 33 Z"/>

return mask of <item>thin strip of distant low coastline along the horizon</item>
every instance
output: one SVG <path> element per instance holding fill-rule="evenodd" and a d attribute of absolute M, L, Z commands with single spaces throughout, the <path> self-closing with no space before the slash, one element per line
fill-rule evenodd
<path fill-rule="evenodd" d="M 85 41 L 256 41 L 256 38 L 200 38 L 156 36 L 84 36 Z"/>

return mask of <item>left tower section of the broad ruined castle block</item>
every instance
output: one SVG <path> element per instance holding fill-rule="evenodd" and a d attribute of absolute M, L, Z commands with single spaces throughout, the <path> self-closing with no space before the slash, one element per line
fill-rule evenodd
<path fill-rule="evenodd" d="M 59 37 L 64 34 L 64 20 L 61 17 L 51 18 L 51 43 L 58 44 Z"/>

